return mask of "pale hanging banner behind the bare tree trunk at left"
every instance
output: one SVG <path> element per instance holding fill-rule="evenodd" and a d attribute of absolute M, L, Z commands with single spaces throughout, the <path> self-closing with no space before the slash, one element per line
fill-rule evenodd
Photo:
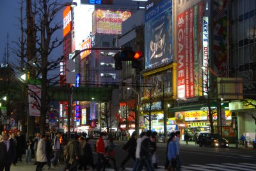
<path fill-rule="evenodd" d="M 41 85 L 28 85 L 29 115 L 40 116 Z"/>

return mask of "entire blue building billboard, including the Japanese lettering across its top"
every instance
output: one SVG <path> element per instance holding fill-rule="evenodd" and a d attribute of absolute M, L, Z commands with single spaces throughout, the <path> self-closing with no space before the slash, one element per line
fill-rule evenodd
<path fill-rule="evenodd" d="M 155 1 L 146 4 L 145 69 L 173 61 L 172 1 Z"/>

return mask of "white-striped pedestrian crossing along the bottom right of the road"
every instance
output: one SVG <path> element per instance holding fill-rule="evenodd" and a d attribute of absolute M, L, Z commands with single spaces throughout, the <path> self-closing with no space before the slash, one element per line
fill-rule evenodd
<path fill-rule="evenodd" d="M 113 171 L 113 168 L 106 168 L 106 171 Z M 125 168 L 125 170 L 132 170 L 132 168 Z M 145 170 L 145 169 L 144 169 Z M 155 170 L 163 170 L 163 166 Z M 209 171 L 209 170 L 223 170 L 223 171 L 255 171 L 256 163 L 221 163 L 221 164 L 205 164 L 205 165 L 182 165 L 182 171 Z"/>

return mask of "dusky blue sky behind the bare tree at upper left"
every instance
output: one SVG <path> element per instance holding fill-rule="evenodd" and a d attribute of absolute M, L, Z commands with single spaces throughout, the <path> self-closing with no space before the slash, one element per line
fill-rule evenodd
<path fill-rule="evenodd" d="M 26 0 L 25 0 L 26 1 Z M 70 0 L 71 1 L 71 0 Z M 68 0 L 63 0 L 61 3 L 70 2 Z M 26 4 L 24 4 L 24 10 Z M 25 11 L 24 11 L 25 12 Z M 60 10 L 56 20 L 62 22 L 63 9 Z M 3 63 L 4 59 L 4 48 L 7 47 L 7 34 L 9 33 L 9 62 L 17 63 L 18 57 L 13 54 L 11 48 L 17 48 L 14 41 L 18 41 L 20 37 L 20 0 L 1 0 L 0 5 L 0 63 Z M 26 23 L 25 23 L 26 26 Z M 62 38 L 62 30 L 58 31 L 58 38 Z M 54 52 L 52 57 L 59 57 L 62 55 L 62 46 Z"/>

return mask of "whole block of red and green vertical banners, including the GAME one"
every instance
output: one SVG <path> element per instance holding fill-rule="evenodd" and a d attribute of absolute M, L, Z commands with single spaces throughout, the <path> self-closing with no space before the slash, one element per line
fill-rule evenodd
<path fill-rule="evenodd" d="M 202 96 L 202 66 L 204 47 L 203 1 L 179 1 L 177 3 L 177 94 L 178 98 Z M 208 31 L 208 29 L 207 29 Z M 205 34 L 206 35 L 206 34 Z M 208 52 L 205 56 L 208 57 Z"/>

